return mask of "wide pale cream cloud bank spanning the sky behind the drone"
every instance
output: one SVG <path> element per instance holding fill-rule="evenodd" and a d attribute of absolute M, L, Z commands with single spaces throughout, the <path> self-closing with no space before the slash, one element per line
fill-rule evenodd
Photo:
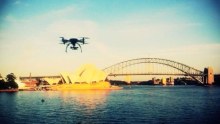
<path fill-rule="evenodd" d="M 201 22 L 172 21 L 173 18 L 163 20 L 165 16 L 176 14 L 167 11 L 158 15 L 129 15 L 117 21 L 100 23 L 99 20 L 77 18 L 77 15 L 83 14 L 79 8 L 69 5 L 25 19 L 7 15 L 7 29 L 0 30 L 0 50 L 5 54 L 0 56 L 6 58 L 0 62 L 1 65 L 6 65 L 5 70 L 12 70 L 19 63 L 18 72 L 35 71 L 48 75 L 74 70 L 74 67 L 86 62 L 104 68 L 120 61 L 150 56 L 176 60 L 201 69 L 206 66 L 204 63 L 211 65 L 215 61 L 215 68 L 218 67 L 219 44 L 197 44 L 193 41 L 199 41 L 200 37 L 189 40 L 195 43 L 192 45 L 183 42 L 188 38 L 184 37 L 187 36 L 184 33 L 202 27 Z M 83 53 L 65 53 L 65 46 L 59 44 L 60 36 L 86 36 L 90 39 L 88 45 L 82 46 Z M 16 63 L 11 62 L 14 59 Z M 201 63 L 195 63 L 197 60 Z M 33 63 L 36 66 L 33 67 Z"/>

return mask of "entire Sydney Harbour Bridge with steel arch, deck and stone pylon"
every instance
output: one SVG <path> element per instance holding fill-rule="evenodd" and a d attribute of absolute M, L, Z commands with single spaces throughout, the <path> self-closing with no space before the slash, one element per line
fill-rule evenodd
<path fill-rule="evenodd" d="M 204 71 L 176 61 L 162 58 L 137 58 L 116 63 L 103 69 L 111 76 L 138 76 L 138 75 L 163 75 L 163 76 L 187 76 L 199 84 L 212 84 L 214 74 L 211 67 L 204 68 Z M 34 79 L 58 78 L 59 76 L 36 76 Z M 30 77 L 20 77 L 28 79 Z"/>

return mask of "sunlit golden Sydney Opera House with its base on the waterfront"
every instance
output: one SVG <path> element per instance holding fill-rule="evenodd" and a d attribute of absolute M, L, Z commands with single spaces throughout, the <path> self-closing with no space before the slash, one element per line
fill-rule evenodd
<path fill-rule="evenodd" d="M 121 89 L 112 86 L 107 79 L 107 74 L 92 64 L 85 64 L 73 73 L 61 73 L 61 84 L 52 85 L 52 90 L 75 89 Z"/>

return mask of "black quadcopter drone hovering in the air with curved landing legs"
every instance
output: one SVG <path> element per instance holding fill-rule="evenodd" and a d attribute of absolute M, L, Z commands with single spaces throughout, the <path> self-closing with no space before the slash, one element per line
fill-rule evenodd
<path fill-rule="evenodd" d="M 71 45 L 70 49 L 78 50 L 78 48 L 80 48 L 80 50 L 82 52 L 81 45 L 88 44 L 88 43 L 85 42 L 85 39 L 89 39 L 88 37 L 81 37 L 80 39 L 70 38 L 69 40 L 65 39 L 64 37 L 60 37 L 60 38 L 61 38 L 61 41 L 62 41 L 61 44 L 66 45 L 66 52 L 67 52 L 67 49 L 70 45 Z"/>

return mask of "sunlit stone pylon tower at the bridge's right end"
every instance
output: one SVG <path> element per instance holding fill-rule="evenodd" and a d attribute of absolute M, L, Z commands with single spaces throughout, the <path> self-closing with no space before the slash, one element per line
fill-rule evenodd
<path fill-rule="evenodd" d="M 212 83 L 214 83 L 214 72 L 212 67 L 208 67 L 204 69 L 204 78 L 203 78 L 203 82 L 205 85 L 212 85 Z"/>

